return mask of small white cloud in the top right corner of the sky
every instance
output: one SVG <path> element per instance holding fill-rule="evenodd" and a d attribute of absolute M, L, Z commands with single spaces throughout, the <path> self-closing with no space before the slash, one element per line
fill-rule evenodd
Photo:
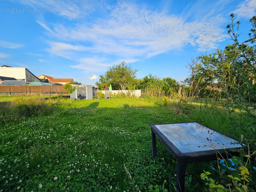
<path fill-rule="evenodd" d="M 256 0 L 246 0 L 237 6 L 234 11 L 239 17 L 252 18 L 256 15 Z"/>

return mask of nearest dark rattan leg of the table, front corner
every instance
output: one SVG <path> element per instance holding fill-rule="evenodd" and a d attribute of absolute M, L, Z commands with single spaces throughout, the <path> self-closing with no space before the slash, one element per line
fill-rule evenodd
<path fill-rule="evenodd" d="M 186 162 L 182 159 L 177 158 L 176 190 L 178 192 L 184 192 L 185 191 L 185 172 L 186 172 Z"/>

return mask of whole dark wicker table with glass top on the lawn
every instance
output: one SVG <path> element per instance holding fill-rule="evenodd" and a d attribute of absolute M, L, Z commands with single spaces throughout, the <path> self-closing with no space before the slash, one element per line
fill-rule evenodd
<path fill-rule="evenodd" d="M 152 156 L 156 157 L 156 135 L 176 158 L 176 188 L 185 191 L 186 164 L 217 159 L 216 150 L 228 158 L 239 155 L 229 151 L 240 148 L 234 138 L 197 122 L 151 124 Z M 232 143 L 232 144 L 231 144 Z M 218 157 L 221 158 L 218 153 Z"/>

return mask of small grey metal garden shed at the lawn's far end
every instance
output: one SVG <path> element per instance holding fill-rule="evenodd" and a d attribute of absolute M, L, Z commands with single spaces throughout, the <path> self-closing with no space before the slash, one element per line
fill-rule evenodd
<path fill-rule="evenodd" d="M 76 85 L 76 90 L 70 96 L 71 99 L 92 99 L 95 95 L 95 87 L 90 85 Z"/>

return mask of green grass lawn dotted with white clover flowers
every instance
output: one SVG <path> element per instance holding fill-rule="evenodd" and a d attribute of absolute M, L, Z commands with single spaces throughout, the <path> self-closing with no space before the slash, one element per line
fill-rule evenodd
<path fill-rule="evenodd" d="M 147 98 L 61 103 L 49 115 L 13 116 L 0 125 L 0 191 L 148 191 L 164 180 L 174 191 L 175 159 L 158 139 L 152 158 L 150 124 L 197 121 L 228 132 L 221 109 L 198 105 L 164 107 Z M 203 169 L 210 164 L 188 165 L 187 191 L 204 187 L 192 190 Z"/>

